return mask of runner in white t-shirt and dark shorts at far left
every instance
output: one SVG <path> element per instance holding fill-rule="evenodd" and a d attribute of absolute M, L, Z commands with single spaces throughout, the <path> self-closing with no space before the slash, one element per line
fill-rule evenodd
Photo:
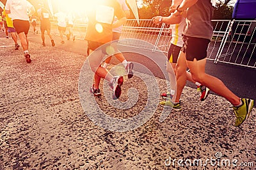
<path fill-rule="evenodd" d="M 35 8 L 26 0 L 7 0 L 5 10 L 7 14 L 12 13 L 13 26 L 19 35 L 26 62 L 31 63 L 31 58 L 28 51 L 28 31 L 30 26 L 29 15 L 35 13 Z"/>

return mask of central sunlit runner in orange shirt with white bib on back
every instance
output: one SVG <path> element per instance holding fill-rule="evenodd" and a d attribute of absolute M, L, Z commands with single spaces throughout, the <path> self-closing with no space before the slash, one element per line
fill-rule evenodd
<path fill-rule="evenodd" d="M 100 96 L 100 78 L 104 78 L 109 82 L 109 86 L 113 89 L 113 99 L 120 97 L 123 84 L 122 76 L 111 75 L 111 73 L 101 66 L 104 55 L 108 54 L 106 47 L 98 49 L 105 43 L 112 40 L 112 28 L 125 24 L 126 17 L 120 4 L 115 0 L 93 1 L 92 6 L 87 6 L 86 12 L 88 15 L 88 26 L 85 40 L 88 41 L 89 63 L 92 71 L 95 73 L 91 92 L 94 96 Z M 113 24 L 114 16 L 118 21 Z"/>

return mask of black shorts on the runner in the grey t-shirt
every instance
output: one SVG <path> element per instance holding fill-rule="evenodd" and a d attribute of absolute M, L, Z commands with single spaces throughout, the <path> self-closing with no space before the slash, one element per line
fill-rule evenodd
<path fill-rule="evenodd" d="M 182 52 L 186 53 L 188 61 L 201 60 L 207 57 L 208 45 L 211 42 L 206 38 L 196 38 L 191 36 L 183 36 Z"/>

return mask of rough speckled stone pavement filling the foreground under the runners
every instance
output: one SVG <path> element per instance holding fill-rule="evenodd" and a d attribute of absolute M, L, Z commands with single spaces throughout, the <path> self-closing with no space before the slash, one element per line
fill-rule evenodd
<path fill-rule="evenodd" d="M 83 50 L 72 51 L 72 45 Z M 56 37 L 56 47 L 50 42 L 42 47 L 40 35 L 31 34 L 29 51 L 30 64 L 22 48 L 14 50 L 13 41 L 0 34 L 0 169 L 256 168 L 255 108 L 237 128 L 227 100 L 210 94 L 200 102 L 195 88 L 186 86 L 182 111 L 172 111 L 159 122 L 163 107 L 158 105 L 141 127 L 112 132 L 93 123 L 87 116 L 90 109 L 81 106 L 78 84 L 86 60 L 83 40 L 61 45 Z M 166 90 L 165 80 L 161 76 L 156 80 L 160 91 Z M 104 94 L 95 101 L 109 116 L 132 118 L 145 107 L 147 86 L 134 76 L 125 77 L 122 87 L 121 101 L 128 100 L 129 88 L 137 89 L 139 97 L 133 107 L 116 109 Z M 183 160 L 180 164 L 179 159 Z M 189 166 L 189 160 L 193 163 L 195 159 L 203 165 Z M 211 159 L 215 163 L 210 164 Z M 221 165 L 223 159 L 230 166 Z M 234 160 L 237 166 L 232 164 Z"/>

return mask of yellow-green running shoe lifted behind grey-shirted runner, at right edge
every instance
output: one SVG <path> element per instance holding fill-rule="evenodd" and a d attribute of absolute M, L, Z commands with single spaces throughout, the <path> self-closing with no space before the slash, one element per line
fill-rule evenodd
<path fill-rule="evenodd" d="M 241 106 L 233 107 L 236 114 L 235 127 L 239 127 L 245 120 L 247 120 L 254 105 L 254 100 L 249 98 L 241 98 L 241 101 L 243 102 Z"/>

